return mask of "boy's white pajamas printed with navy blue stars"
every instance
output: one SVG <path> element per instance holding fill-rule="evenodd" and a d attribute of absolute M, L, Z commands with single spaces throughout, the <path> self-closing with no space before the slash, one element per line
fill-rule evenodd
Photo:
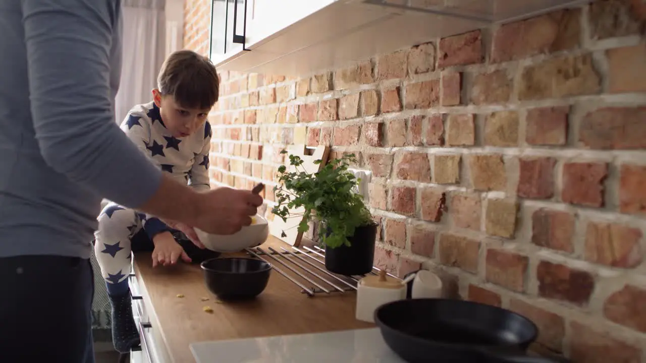
<path fill-rule="evenodd" d="M 121 130 L 161 171 L 200 191 L 209 189 L 212 134 L 208 121 L 193 134 L 174 138 L 164 126 L 160 110 L 151 102 L 133 107 L 121 124 Z M 128 275 L 130 240 L 134 234 L 143 228 L 152 239 L 158 233 L 171 230 L 158 218 L 117 203 L 109 203 L 99 214 L 98 221 L 94 251 L 103 278 L 109 284 L 121 282 Z"/>

